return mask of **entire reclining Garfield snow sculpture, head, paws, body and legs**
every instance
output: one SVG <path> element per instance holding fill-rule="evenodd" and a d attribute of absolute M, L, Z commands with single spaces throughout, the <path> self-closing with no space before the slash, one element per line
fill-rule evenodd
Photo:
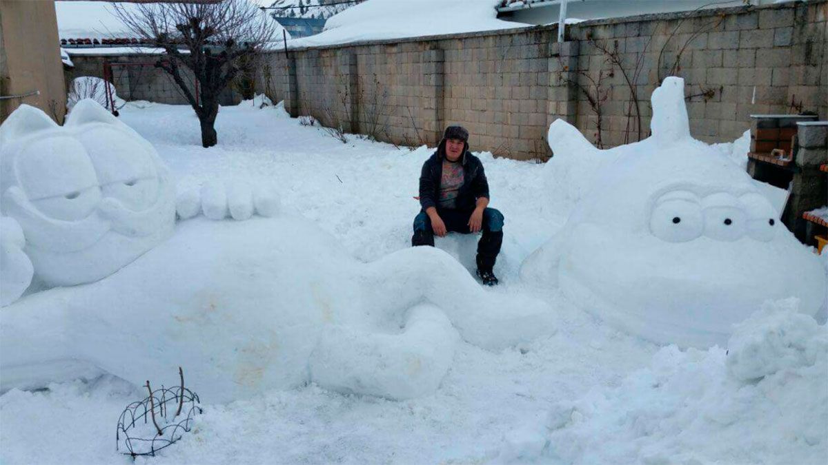
<path fill-rule="evenodd" d="M 0 132 L 0 391 L 102 373 L 171 385 L 181 366 L 209 402 L 311 381 L 405 399 L 436 390 L 460 338 L 550 331 L 545 304 L 482 290 L 440 250 L 366 264 L 267 191 L 176 199 L 152 146 L 96 103 L 65 127 L 24 107 Z M 32 276 L 58 287 L 23 294 Z"/>

